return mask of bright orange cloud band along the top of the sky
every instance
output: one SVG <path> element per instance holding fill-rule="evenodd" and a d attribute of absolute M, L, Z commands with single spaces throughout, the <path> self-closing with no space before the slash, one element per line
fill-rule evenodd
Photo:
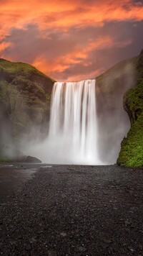
<path fill-rule="evenodd" d="M 39 29 L 68 29 L 69 27 L 99 26 L 107 21 L 143 19 L 143 6 L 132 0 L 113 1 L 40 1 L 7 0 L 0 4 L 0 38 L 12 28 L 37 24 Z"/>

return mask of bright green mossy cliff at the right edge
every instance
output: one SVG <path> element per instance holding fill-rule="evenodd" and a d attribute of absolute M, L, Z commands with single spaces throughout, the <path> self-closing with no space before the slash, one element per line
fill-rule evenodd
<path fill-rule="evenodd" d="M 121 144 L 117 163 L 132 167 L 143 166 L 143 81 L 126 93 L 126 110 L 131 119 L 131 128 Z"/>

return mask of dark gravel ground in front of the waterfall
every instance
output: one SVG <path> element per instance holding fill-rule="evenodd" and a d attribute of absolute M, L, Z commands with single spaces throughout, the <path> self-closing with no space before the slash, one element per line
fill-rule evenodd
<path fill-rule="evenodd" d="M 141 168 L 41 167 L 0 206 L 0 255 L 143 255 Z"/>

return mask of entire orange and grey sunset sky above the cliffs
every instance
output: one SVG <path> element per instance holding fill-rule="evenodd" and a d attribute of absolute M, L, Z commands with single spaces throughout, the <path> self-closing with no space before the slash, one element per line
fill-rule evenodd
<path fill-rule="evenodd" d="M 0 0 L 0 16 L 0 57 L 58 81 L 95 77 L 143 48 L 142 1 Z"/>

